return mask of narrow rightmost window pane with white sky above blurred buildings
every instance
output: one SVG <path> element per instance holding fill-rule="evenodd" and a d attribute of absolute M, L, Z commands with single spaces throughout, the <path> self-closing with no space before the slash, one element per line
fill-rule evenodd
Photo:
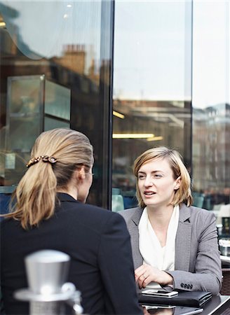
<path fill-rule="evenodd" d="M 194 1 L 194 194 L 219 225 L 230 216 L 229 12 L 229 1 Z"/>

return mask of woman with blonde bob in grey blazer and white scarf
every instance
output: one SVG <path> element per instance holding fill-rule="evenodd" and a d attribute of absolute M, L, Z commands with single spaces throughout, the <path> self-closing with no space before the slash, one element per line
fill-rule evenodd
<path fill-rule="evenodd" d="M 134 163 L 139 207 L 119 212 L 131 237 L 139 288 L 219 293 L 215 216 L 192 207 L 190 177 L 177 151 L 151 148 Z"/>

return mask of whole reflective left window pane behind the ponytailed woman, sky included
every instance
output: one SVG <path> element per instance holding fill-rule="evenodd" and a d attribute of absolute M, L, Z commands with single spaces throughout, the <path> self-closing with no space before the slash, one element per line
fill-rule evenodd
<path fill-rule="evenodd" d="M 112 11 L 107 1 L 0 0 L 0 193 L 18 183 L 25 172 L 24 155 L 29 155 L 41 131 L 70 126 L 85 133 L 95 148 L 95 179 L 89 201 L 108 205 L 109 194 L 103 185 L 109 169 L 102 165 L 107 166 L 108 158 L 104 121 L 109 118 L 104 112 L 110 104 L 104 91 L 111 89 L 108 43 Z M 12 81 L 15 86 L 11 92 L 7 83 L 10 77 L 18 78 Z M 42 87 L 34 77 L 43 78 Z M 22 113 L 23 119 L 19 117 Z M 23 158 L 20 167 L 18 155 Z"/>

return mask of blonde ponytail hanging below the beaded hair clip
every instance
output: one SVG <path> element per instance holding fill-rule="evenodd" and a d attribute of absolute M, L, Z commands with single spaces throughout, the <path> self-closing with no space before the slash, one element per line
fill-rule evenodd
<path fill-rule="evenodd" d="M 6 217 L 20 221 L 24 229 L 28 225 L 39 225 L 41 220 L 53 216 L 56 191 L 57 179 L 52 165 L 42 161 L 33 165 L 18 184 L 10 203 L 11 213 Z"/>

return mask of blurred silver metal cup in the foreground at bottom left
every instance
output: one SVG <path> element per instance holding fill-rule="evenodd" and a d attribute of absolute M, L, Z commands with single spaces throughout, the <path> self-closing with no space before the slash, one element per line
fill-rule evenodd
<path fill-rule="evenodd" d="M 82 314 L 81 293 L 66 282 L 70 257 L 53 250 L 37 251 L 25 258 L 29 288 L 15 291 L 18 300 L 29 301 L 30 315 L 65 315 L 67 304 Z"/>

